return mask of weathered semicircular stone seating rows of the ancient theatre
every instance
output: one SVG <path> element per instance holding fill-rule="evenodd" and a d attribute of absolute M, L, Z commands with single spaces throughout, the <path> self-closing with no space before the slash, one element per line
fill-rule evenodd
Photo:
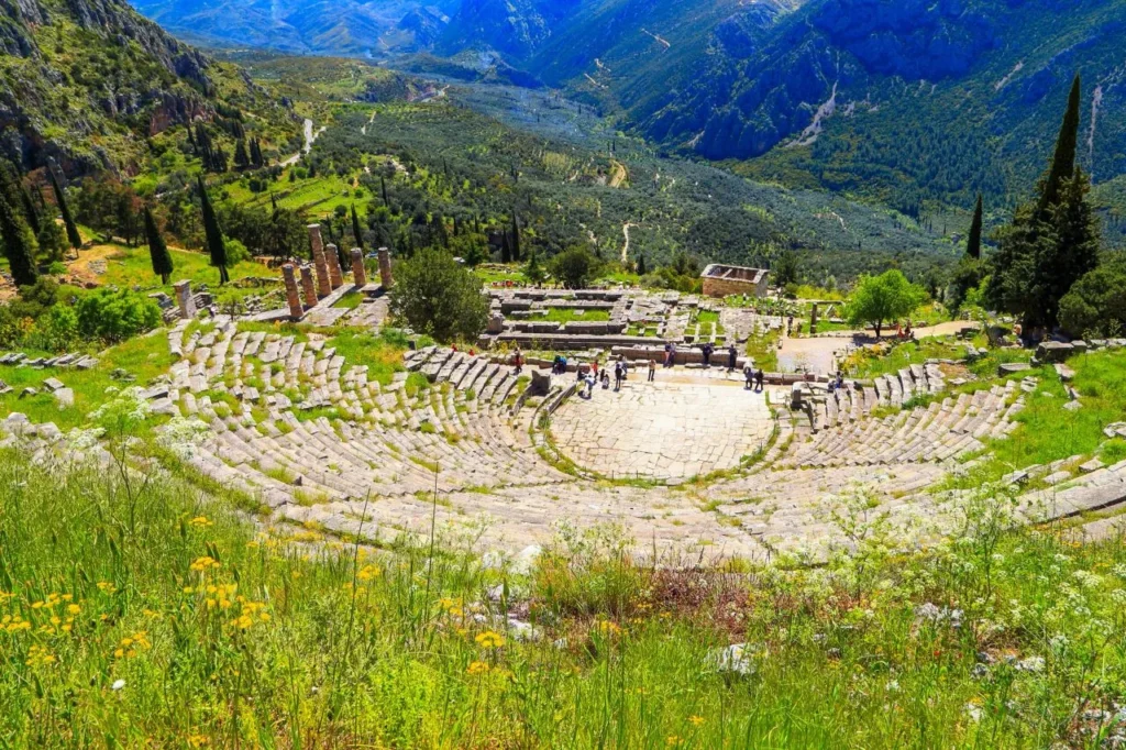
<path fill-rule="evenodd" d="M 883 417 L 876 408 L 895 393 L 887 382 L 819 394 L 802 412 L 774 391 L 777 430 L 750 470 L 669 486 L 609 483 L 545 458 L 544 432 L 533 427 L 573 393 L 573 377 L 537 377 L 551 386 L 534 394 L 529 373 L 429 347 L 379 383 L 315 333 L 240 330 L 225 318 L 209 330 L 178 324 L 168 340 L 177 361 L 149 391 L 154 408 L 203 420 L 206 438 L 186 461 L 268 507 L 275 525 L 376 543 L 422 541 L 435 528 L 503 553 L 545 544 L 561 525 L 613 525 L 638 554 L 662 559 L 816 556 L 849 544 L 840 518 L 858 508 L 892 528 L 950 532 L 962 503 L 942 480 L 966 471 L 988 438 L 1008 436 L 1035 389 L 1026 381 L 932 395 Z M 414 373 L 431 387 L 411 387 Z M 938 382 L 911 380 L 927 392 Z M 899 383 L 902 402 L 902 374 Z M 53 425 L 21 414 L 0 422 L 0 434 L 36 459 L 71 452 Z M 1049 489 L 1020 495 L 1028 521 L 1126 500 L 1126 462 L 1078 476 L 1067 462 L 1030 471 Z"/>

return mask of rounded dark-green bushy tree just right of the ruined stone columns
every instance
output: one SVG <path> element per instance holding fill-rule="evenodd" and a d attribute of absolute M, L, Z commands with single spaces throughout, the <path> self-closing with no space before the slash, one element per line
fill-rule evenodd
<path fill-rule="evenodd" d="M 473 271 L 429 248 L 395 268 L 391 313 L 438 341 L 474 341 L 489 322 L 489 297 Z"/>

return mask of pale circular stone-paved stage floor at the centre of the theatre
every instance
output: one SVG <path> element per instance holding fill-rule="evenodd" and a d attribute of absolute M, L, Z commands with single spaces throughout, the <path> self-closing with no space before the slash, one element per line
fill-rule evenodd
<path fill-rule="evenodd" d="M 738 466 L 772 427 L 762 393 L 661 370 L 655 383 L 635 373 L 620 392 L 570 398 L 551 432 L 571 461 L 606 476 L 685 479 Z"/>

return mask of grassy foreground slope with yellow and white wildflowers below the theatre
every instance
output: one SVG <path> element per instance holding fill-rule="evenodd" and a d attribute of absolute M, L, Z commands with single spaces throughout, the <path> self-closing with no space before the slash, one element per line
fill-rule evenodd
<path fill-rule="evenodd" d="M 267 537 L 188 477 L 127 489 L 0 453 L 0 538 L 20 541 L 0 546 L 6 745 L 1093 748 L 1116 731 L 1126 547 L 1002 533 L 1003 505 L 926 554 L 869 521 L 821 569 L 654 569 L 602 529 L 521 571 L 440 538 L 431 556 L 315 526 Z"/>

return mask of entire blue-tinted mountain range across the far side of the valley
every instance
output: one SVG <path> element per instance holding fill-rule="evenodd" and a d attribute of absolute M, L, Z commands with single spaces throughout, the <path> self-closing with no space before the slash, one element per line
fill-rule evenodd
<path fill-rule="evenodd" d="M 1126 175 L 1126 0 L 136 2 L 226 44 L 435 72 L 486 52 L 670 150 L 902 208 L 1027 185 L 1080 72 L 1083 164 Z"/>

